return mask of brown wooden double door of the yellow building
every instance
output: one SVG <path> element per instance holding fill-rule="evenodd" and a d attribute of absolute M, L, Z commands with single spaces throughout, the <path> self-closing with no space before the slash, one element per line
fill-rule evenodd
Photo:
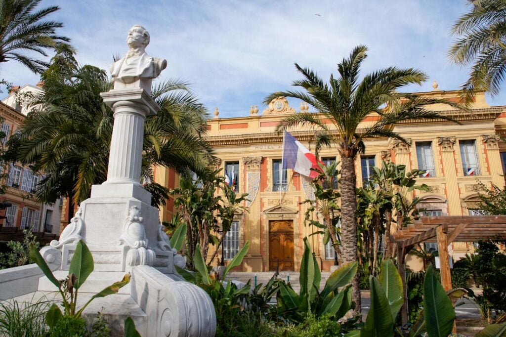
<path fill-rule="evenodd" d="M 269 222 L 269 270 L 293 271 L 293 222 Z"/>

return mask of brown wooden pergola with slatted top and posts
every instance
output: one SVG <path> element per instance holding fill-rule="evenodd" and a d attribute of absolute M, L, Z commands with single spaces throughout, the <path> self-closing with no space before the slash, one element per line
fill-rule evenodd
<path fill-rule="evenodd" d="M 411 248 L 424 241 L 436 241 L 439 251 L 441 284 L 450 290 L 451 274 L 448 245 L 452 242 L 477 242 L 481 240 L 505 240 L 506 216 L 441 216 L 420 217 L 401 230 L 390 235 L 390 241 L 397 243 L 397 268 L 406 275 L 405 258 Z M 402 277 L 406 289 L 405 277 Z M 402 324 L 407 323 L 407 299 L 404 294 L 404 306 L 401 310 Z"/>

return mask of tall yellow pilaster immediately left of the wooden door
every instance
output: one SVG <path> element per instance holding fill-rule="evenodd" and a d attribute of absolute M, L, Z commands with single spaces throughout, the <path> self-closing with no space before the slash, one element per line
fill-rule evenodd
<path fill-rule="evenodd" d="M 246 205 L 249 213 L 244 218 L 244 241 L 250 240 L 248 255 L 244 259 L 244 271 L 263 271 L 262 254 L 260 246 L 260 163 L 262 157 L 243 157 L 242 162 L 246 170 L 247 198 Z"/>

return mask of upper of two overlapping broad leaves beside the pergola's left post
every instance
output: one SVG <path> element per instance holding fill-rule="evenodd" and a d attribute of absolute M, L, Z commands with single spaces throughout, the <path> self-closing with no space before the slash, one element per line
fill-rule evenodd
<path fill-rule="evenodd" d="M 404 289 L 402 287 L 401 275 L 391 259 L 383 261 L 381 272 L 379 273 L 379 283 L 381 283 L 385 290 L 385 295 L 392 311 L 392 317 L 395 319 L 404 303 L 402 296 Z"/>

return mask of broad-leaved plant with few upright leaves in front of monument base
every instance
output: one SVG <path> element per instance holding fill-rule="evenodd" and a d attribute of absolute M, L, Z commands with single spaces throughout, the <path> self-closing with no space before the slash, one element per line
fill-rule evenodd
<path fill-rule="evenodd" d="M 80 286 L 85 283 L 86 279 L 93 272 L 94 263 L 93 256 L 88 249 L 86 243 L 82 240 L 77 242 L 75 247 L 74 255 L 69 266 L 69 274 L 65 280 L 57 280 L 56 277 L 49 269 L 46 261 L 40 255 L 37 248 L 34 245 L 30 245 L 30 258 L 33 262 L 39 266 L 44 272 L 44 275 L 53 283 L 60 292 L 62 298 L 62 304 L 64 312 L 62 314 L 60 307 L 57 304 L 53 304 L 48 313 L 46 314 L 46 322 L 50 326 L 51 330 L 59 327 L 59 322 L 62 318 L 65 320 L 61 324 L 67 324 L 72 319 L 76 319 L 81 316 L 82 311 L 96 298 L 105 297 L 110 294 L 117 293 L 119 288 L 130 282 L 130 273 L 125 274 L 121 281 L 115 282 L 108 287 L 105 287 L 100 292 L 96 293 L 92 298 L 85 303 L 80 309 L 77 310 L 77 293 Z M 69 323 L 70 324 L 70 323 Z M 77 324 L 77 323 L 76 323 Z"/>

